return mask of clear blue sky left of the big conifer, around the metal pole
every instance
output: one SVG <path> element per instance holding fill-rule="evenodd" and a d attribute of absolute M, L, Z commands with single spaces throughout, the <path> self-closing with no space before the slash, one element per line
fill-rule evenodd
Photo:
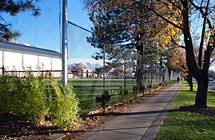
<path fill-rule="evenodd" d="M 92 24 L 87 15 L 87 9 L 84 9 L 80 0 L 67 1 L 68 20 L 90 29 Z M 61 21 L 59 22 L 59 15 L 62 0 L 41 0 L 36 3 L 36 6 L 41 9 L 41 15 L 38 17 L 32 16 L 32 12 L 28 10 L 15 17 L 5 13 L 1 16 L 12 24 L 13 31 L 21 33 L 21 36 L 16 38 L 17 41 L 61 52 L 60 26 L 62 24 Z M 90 33 L 68 24 L 69 58 L 91 58 L 96 49 L 87 43 L 87 36 L 90 36 Z"/>

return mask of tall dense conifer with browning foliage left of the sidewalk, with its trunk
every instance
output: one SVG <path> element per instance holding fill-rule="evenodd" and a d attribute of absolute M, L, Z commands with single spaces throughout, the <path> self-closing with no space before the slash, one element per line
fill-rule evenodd
<path fill-rule="evenodd" d="M 109 63 L 111 68 L 122 65 L 123 59 L 127 60 L 126 64 L 136 61 L 137 65 L 133 63 L 132 67 L 136 66 L 138 90 L 142 86 L 144 68 L 158 69 L 156 65 L 160 63 L 160 72 L 164 70 L 169 54 L 174 51 L 171 49 L 173 44 L 170 43 L 170 39 L 173 37 L 178 42 L 180 32 L 157 18 L 156 14 L 147 8 L 148 5 L 151 6 L 150 0 L 84 0 L 84 3 L 94 25 L 93 34 L 88 37 L 88 42 L 101 50 L 96 53 L 96 59 L 103 58 L 103 53 L 106 52 L 106 58 L 112 60 L 112 63 Z M 128 58 L 123 58 L 124 54 Z"/>

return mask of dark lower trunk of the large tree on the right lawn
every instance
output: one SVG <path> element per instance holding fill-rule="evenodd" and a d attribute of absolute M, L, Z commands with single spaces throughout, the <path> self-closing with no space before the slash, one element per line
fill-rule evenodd
<path fill-rule="evenodd" d="M 198 88 L 196 93 L 195 106 L 197 108 L 207 108 L 208 76 L 201 76 L 197 80 Z"/>

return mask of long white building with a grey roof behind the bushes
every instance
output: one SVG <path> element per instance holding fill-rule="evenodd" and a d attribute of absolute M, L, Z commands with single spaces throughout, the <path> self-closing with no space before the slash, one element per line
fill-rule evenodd
<path fill-rule="evenodd" d="M 4 67 L 5 71 L 42 70 L 51 71 L 52 76 L 60 77 L 61 58 L 61 53 L 56 51 L 11 42 L 0 42 L 0 68 Z M 44 72 L 44 75 L 45 73 L 47 74 Z"/>

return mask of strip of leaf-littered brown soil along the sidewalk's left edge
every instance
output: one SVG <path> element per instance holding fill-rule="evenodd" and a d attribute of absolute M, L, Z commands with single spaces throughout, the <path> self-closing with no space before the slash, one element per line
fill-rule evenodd
<path fill-rule="evenodd" d="M 0 115 L 0 139 L 44 140 L 46 137 L 55 133 L 66 134 L 66 137 L 64 137 L 63 140 L 74 139 L 81 134 L 113 119 L 114 117 L 125 113 L 129 108 L 141 103 L 149 97 L 159 94 L 160 91 L 170 86 L 171 85 L 165 88 L 150 90 L 144 95 L 140 95 L 137 100 L 133 100 L 130 103 L 118 103 L 111 105 L 106 108 L 105 114 L 103 113 L 103 110 L 100 109 L 81 115 L 79 119 L 80 126 L 67 130 L 49 127 L 49 122 L 33 125 L 21 116 L 8 114 Z"/>

